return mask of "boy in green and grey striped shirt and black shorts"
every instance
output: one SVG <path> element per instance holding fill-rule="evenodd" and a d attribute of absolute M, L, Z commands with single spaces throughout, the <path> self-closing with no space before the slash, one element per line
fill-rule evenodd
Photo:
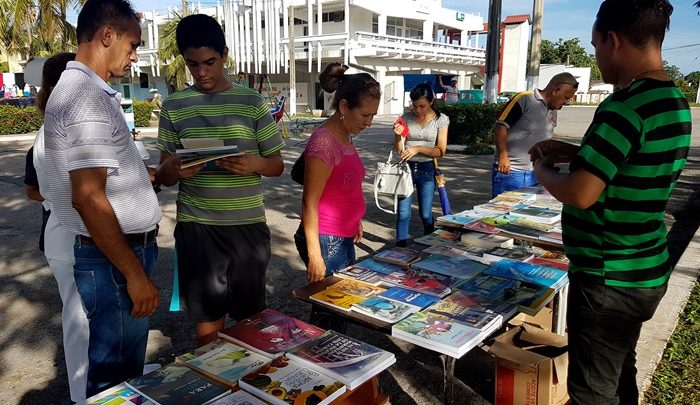
<path fill-rule="evenodd" d="M 197 322 L 200 345 L 216 339 L 226 314 L 240 320 L 265 308 L 270 230 L 265 222 L 262 176 L 284 170 L 284 141 L 257 92 L 224 75 L 228 49 L 219 23 L 198 14 L 177 26 L 177 46 L 195 80 L 161 108 L 156 179 L 179 182 L 177 251 L 180 291 Z M 243 156 L 181 168 L 182 140 L 215 138 Z"/>

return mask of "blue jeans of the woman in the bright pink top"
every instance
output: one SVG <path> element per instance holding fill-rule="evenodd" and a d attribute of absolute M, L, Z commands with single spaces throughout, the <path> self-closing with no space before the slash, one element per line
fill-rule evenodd
<path fill-rule="evenodd" d="M 326 265 L 326 277 L 338 270 L 348 267 L 355 261 L 355 243 L 353 238 L 344 238 L 334 235 L 318 235 L 321 243 L 321 255 Z M 294 243 L 299 252 L 299 257 L 305 265 L 309 264 L 309 251 L 306 247 L 304 228 L 299 226 L 294 234 Z"/>

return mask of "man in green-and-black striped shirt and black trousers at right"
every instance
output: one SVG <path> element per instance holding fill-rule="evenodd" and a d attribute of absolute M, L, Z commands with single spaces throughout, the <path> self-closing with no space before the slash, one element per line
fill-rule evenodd
<path fill-rule="evenodd" d="M 664 210 L 691 129 L 688 103 L 661 58 L 672 11 L 667 0 L 603 1 L 592 44 L 618 91 L 600 104 L 580 147 L 544 141 L 530 150 L 537 179 L 564 203 L 576 404 L 638 403 L 635 347 L 672 270 Z M 570 174 L 554 170 L 562 161 Z"/>

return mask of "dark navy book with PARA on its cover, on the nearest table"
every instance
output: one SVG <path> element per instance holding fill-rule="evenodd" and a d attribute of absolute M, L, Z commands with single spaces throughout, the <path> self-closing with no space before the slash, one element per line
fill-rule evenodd
<path fill-rule="evenodd" d="M 230 392 L 225 385 L 177 364 L 132 378 L 126 384 L 161 405 L 203 404 Z"/>

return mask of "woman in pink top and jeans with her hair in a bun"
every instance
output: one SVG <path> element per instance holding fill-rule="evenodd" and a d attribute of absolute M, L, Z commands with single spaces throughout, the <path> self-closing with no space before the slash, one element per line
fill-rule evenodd
<path fill-rule="evenodd" d="M 305 150 L 301 225 L 294 239 L 309 282 L 352 263 L 354 244 L 362 238 L 365 168 L 352 138 L 372 125 L 380 90 L 369 74 L 345 74 L 347 69 L 334 63 L 321 73 L 323 90 L 335 91 L 335 113 L 314 131 Z"/>

